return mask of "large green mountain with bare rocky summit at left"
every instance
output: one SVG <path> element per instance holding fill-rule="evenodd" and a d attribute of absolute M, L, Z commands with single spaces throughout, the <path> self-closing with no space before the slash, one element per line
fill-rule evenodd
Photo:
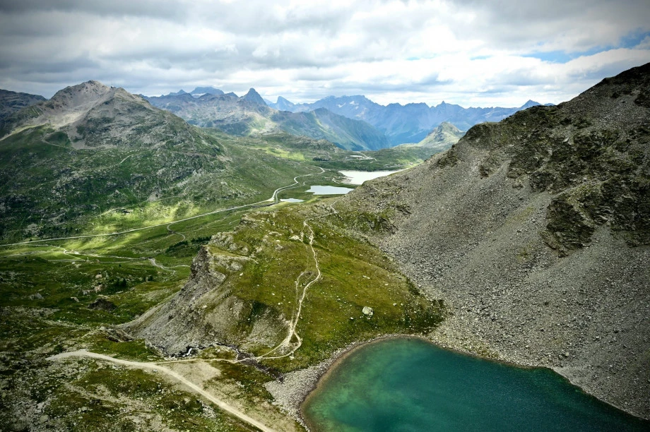
<path fill-rule="evenodd" d="M 71 234 L 98 215 L 110 229 L 130 205 L 143 220 L 187 216 L 264 200 L 313 172 L 232 141 L 121 88 L 60 90 L 13 114 L 0 138 L 0 236 Z"/>

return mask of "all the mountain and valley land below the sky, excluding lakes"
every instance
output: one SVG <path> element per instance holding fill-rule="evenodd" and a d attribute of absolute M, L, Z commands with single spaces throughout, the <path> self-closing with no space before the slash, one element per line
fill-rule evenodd
<path fill-rule="evenodd" d="M 648 428 L 649 101 L 650 64 L 512 109 L 2 90 L 3 430 L 303 431 L 389 336 Z"/>

